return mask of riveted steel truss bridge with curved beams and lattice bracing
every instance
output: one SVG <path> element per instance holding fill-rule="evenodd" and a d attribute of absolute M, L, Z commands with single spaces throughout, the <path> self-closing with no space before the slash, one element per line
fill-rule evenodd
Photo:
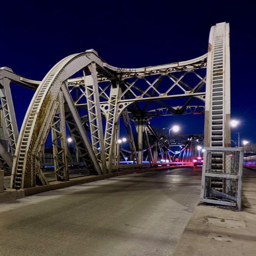
<path fill-rule="evenodd" d="M 208 52 L 188 61 L 117 68 L 87 50 L 59 61 L 42 81 L 0 68 L 0 160 L 2 168 L 12 169 L 11 187 L 48 184 L 40 163 L 49 134 L 56 180 L 69 179 L 67 130 L 79 161 L 96 175 L 119 165 L 120 123 L 134 164 L 142 164 L 145 150 L 151 162 L 159 155 L 172 157 L 149 124 L 156 116 L 205 114 L 205 146 L 230 146 L 229 51 L 229 24 L 218 23 L 211 27 Z M 10 83 L 35 91 L 19 134 Z"/>

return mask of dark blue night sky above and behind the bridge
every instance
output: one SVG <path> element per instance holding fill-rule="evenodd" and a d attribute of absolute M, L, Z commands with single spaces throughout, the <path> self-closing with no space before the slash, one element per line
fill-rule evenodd
<path fill-rule="evenodd" d="M 211 26 L 230 23 L 232 130 L 256 143 L 254 1 L 2 1 L 0 66 L 41 80 L 59 60 L 93 48 L 107 63 L 139 68 L 207 52 Z M 12 86 L 20 129 L 33 92 Z M 158 117 L 181 134 L 203 133 L 203 116 Z M 160 120 L 160 122 L 159 122 Z"/>

